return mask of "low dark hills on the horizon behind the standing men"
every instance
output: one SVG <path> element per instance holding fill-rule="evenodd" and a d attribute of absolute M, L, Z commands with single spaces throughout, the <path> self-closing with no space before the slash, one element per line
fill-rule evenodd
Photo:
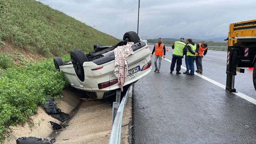
<path fill-rule="evenodd" d="M 220 39 L 220 38 L 219 38 Z M 224 38 L 223 38 L 224 39 Z M 227 42 L 214 42 L 211 40 L 200 40 L 200 39 L 192 39 L 195 43 L 206 43 L 208 46 L 227 46 Z M 180 39 L 173 39 L 173 38 L 163 38 L 164 44 L 173 44 L 175 41 L 180 41 Z M 156 43 L 158 39 L 147 39 L 148 43 Z"/>

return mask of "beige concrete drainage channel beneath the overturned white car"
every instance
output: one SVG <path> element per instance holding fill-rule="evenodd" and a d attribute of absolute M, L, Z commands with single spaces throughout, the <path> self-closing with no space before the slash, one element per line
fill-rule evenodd
<path fill-rule="evenodd" d="M 132 88 L 131 88 L 132 89 Z M 129 144 L 129 129 L 131 127 L 131 91 L 126 98 L 126 106 L 123 107 L 123 118 L 118 135 L 122 133 L 122 144 Z M 82 96 L 74 91 L 64 90 L 63 98 L 56 100 L 57 107 L 61 111 L 70 114 L 70 120 L 61 123 L 50 115 L 47 115 L 43 108 L 39 107 L 38 114 L 32 116 L 34 126 L 25 124 L 11 127 L 10 141 L 5 144 L 15 144 L 19 137 L 53 137 L 56 139 L 54 144 L 107 144 L 110 142 L 110 132 L 112 130 L 112 107 L 105 100 L 81 101 Z M 119 107 L 119 110 L 120 110 Z M 119 114 L 117 114 L 117 117 Z M 117 118 L 116 117 L 116 118 Z M 53 131 L 49 121 L 58 124 L 68 124 L 65 129 Z M 119 123 L 120 124 L 120 123 Z M 122 125 L 123 124 L 123 125 Z M 120 133 L 121 131 L 121 133 Z M 112 135 L 112 134 L 111 134 Z"/>

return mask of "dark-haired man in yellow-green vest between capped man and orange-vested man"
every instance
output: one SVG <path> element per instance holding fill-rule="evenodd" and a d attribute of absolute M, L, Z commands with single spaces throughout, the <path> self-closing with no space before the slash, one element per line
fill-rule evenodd
<path fill-rule="evenodd" d="M 192 42 L 192 39 L 186 39 L 186 56 L 188 58 L 188 66 L 190 69 L 190 73 L 187 73 L 187 75 L 194 75 L 195 72 L 195 57 L 198 54 L 197 53 L 197 46 L 195 42 Z"/>

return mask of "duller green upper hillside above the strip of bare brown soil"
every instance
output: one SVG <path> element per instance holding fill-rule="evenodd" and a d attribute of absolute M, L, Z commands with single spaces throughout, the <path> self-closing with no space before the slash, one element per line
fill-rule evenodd
<path fill-rule="evenodd" d="M 0 46 L 59 56 L 74 49 L 91 52 L 93 44 L 119 40 L 35 0 L 0 0 Z"/>

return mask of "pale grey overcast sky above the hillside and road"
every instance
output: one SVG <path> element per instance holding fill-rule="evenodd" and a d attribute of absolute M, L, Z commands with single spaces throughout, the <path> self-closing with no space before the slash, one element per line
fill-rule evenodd
<path fill-rule="evenodd" d="M 122 39 L 137 32 L 138 0 L 38 0 Z M 256 0 L 140 0 L 139 36 L 227 37 L 229 24 L 256 19 Z"/>

